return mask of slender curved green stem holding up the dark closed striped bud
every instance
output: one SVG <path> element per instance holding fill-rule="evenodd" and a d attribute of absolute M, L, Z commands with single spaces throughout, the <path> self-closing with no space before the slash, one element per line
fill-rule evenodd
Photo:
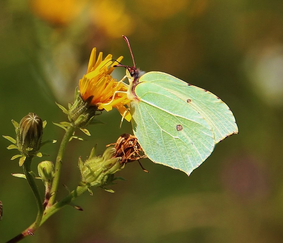
<path fill-rule="evenodd" d="M 43 204 L 41 201 L 40 193 L 37 189 L 37 186 L 34 182 L 33 176 L 30 174 L 30 164 L 31 164 L 32 157 L 27 156 L 25 162 L 23 163 L 22 167 L 26 176 L 26 180 L 29 183 L 30 188 L 33 191 L 35 200 L 36 200 L 36 205 L 37 205 L 37 215 L 36 215 L 36 220 L 33 223 L 33 226 L 29 228 L 29 235 L 33 235 L 33 232 L 36 231 L 36 229 L 40 226 L 40 221 L 43 215 Z"/>

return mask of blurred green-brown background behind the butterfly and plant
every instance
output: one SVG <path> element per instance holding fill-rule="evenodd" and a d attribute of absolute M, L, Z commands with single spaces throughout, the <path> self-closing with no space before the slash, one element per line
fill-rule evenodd
<path fill-rule="evenodd" d="M 115 193 L 94 189 L 53 215 L 22 242 L 169 243 L 283 242 L 283 5 L 282 0 L 2 0 L 0 2 L 0 134 L 13 136 L 11 119 L 29 112 L 47 120 L 42 151 L 55 160 L 66 121 L 55 105 L 73 100 L 92 47 L 124 56 L 128 36 L 137 66 L 170 73 L 215 93 L 236 117 L 239 134 L 219 143 L 189 177 L 142 160 L 127 164 L 127 182 Z M 123 68 L 113 74 L 124 75 Z M 113 110 L 89 127 L 87 141 L 71 141 L 63 163 L 59 197 L 79 181 L 78 157 L 98 143 L 131 133 Z M 0 242 L 36 217 L 33 194 L 15 150 L 0 139 Z M 37 159 L 33 163 L 36 170 Z M 37 181 L 43 191 L 43 184 Z"/>

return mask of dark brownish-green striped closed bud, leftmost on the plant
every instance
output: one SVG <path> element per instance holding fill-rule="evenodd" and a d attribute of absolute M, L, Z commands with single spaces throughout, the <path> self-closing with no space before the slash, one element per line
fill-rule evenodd
<path fill-rule="evenodd" d="M 17 131 L 17 147 L 22 154 L 34 154 L 40 149 L 43 122 L 35 113 L 23 117 Z"/>

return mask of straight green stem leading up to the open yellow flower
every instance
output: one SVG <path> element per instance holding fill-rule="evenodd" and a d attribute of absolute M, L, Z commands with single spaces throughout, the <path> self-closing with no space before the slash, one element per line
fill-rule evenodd
<path fill-rule="evenodd" d="M 65 153 L 67 144 L 74 133 L 74 130 L 75 130 L 74 124 L 71 123 L 70 127 L 67 127 L 66 133 L 60 144 L 58 155 L 56 158 L 56 163 L 55 163 L 55 172 L 54 172 L 53 182 L 52 182 L 52 186 L 50 190 L 51 196 L 50 196 L 50 199 L 48 201 L 46 208 L 50 208 L 51 205 L 54 203 L 55 196 L 58 190 L 60 172 L 61 172 L 61 167 L 62 167 L 62 159 Z"/>

